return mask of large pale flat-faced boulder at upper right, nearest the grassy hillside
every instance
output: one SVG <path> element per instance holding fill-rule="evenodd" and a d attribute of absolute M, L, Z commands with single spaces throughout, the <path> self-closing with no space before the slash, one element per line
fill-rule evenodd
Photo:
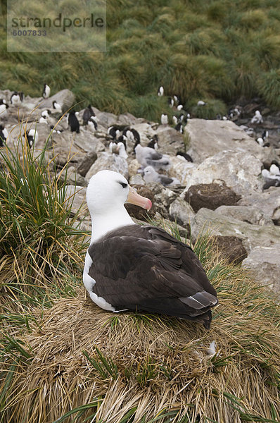
<path fill-rule="evenodd" d="M 259 159 L 264 154 L 264 149 L 231 121 L 190 119 L 185 126 L 185 133 L 190 140 L 189 154 L 198 163 L 227 149 L 253 154 Z"/>

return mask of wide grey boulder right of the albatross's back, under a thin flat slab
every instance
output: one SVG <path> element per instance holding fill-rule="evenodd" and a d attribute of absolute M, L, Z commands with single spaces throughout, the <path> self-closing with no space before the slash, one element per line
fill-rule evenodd
<path fill-rule="evenodd" d="M 272 247 L 279 243 L 280 228 L 278 226 L 252 225 L 237 219 L 222 216 L 209 209 L 198 210 L 191 220 L 191 233 L 197 238 L 200 233 L 212 235 L 237 236 L 241 238 L 247 252 L 254 247 Z"/>

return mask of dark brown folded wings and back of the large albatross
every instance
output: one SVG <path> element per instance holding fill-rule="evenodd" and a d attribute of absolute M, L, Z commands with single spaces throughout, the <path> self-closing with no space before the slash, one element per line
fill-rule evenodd
<path fill-rule="evenodd" d="M 210 327 L 217 293 L 191 247 L 163 229 L 122 227 L 91 244 L 89 255 L 92 290 L 116 310 L 196 319 Z"/>

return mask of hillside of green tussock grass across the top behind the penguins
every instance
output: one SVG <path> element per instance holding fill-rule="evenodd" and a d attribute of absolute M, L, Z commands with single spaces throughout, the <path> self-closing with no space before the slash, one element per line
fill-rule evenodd
<path fill-rule="evenodd" d="M 1 85 L 38 96 L 47 82 L 52 92 L 73 90 L 82 106 L 151 119 L 167 109 L 159 85 L 188 111 L 198 99 L 223 113 L 256 96 L 276 108 L 279 21 L 278 0 L 108 0 L 106 54 L 7 54 L 2 27 Z"/>

